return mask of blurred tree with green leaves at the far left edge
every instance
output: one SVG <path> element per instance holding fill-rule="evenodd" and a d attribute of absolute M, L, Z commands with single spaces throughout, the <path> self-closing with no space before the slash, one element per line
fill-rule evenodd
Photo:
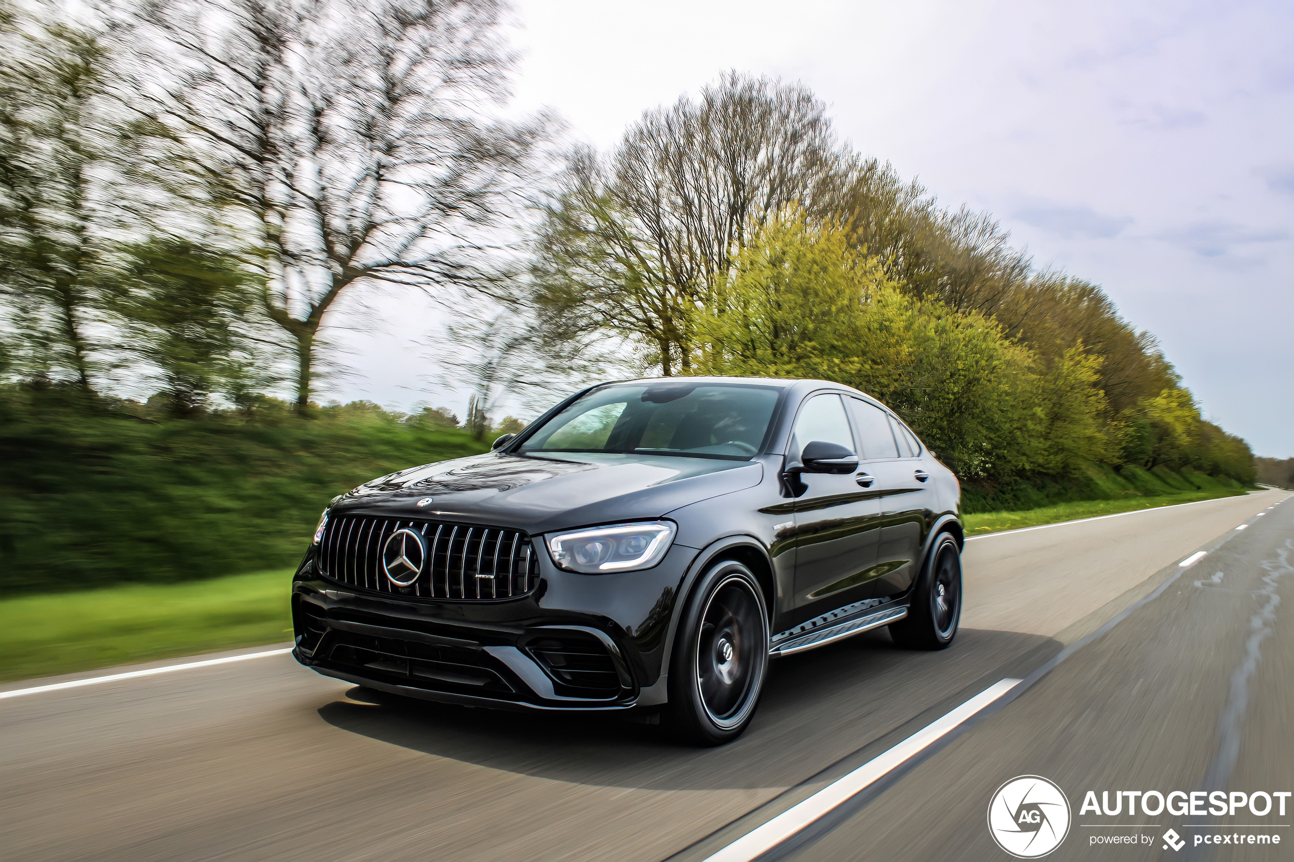
<path fill-rule="evenodd" d="M 106 62 L 96 32 L 0 6 L 0 291 L 23 333 L 14 362 L 87 393 L 116 134 Z"/>

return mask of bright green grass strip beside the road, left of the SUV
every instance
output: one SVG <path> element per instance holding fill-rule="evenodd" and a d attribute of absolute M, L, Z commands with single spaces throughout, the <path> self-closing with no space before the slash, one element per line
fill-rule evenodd
<path fill-rule="evenodd" d="M 0 680 L 292 640 L 292 570 L 0 601 Z"/>

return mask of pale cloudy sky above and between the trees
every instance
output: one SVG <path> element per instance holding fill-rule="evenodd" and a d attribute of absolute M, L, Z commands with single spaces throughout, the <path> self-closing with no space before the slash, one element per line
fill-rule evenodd
<path fill-rule="evenodd" d="M 855 150 L 1101 284 L 1207 419 L 1294 456 L 1294 4 L 519 0 L 510 36 L 509 110 L 599 149 L 725 70 L 802 81 Z M 333 333 L 335 397 L 461 412 L 419 346 L 444 311 L 374 315 Z"/>

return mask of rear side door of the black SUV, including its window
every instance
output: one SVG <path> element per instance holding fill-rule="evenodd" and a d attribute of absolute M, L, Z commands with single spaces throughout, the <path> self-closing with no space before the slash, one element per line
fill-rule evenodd
<path fill-rule="evenodd" d="M 893 596 L 912 585 L 921 565 L 930 491 L 928 477 L 921 478 L 920 443 L 888 411 L 862 398 L 846 401 L 863 450 L 859 481 L 871 479 L 870 490 L 880 505 L 876 561 L 866 597 Z"/>

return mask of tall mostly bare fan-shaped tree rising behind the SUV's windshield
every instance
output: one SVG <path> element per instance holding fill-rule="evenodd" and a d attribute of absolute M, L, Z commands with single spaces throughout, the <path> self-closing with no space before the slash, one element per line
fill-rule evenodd
<path fill-rule="evenodd" d="M 692 310 L 783 207 L 835 203 L 841 160 L 826 106 L 798 84 L 730 72 L 647 111 L 607 158 L 573 154 L 536 240 L 554 331 L 611 331 L 661 373 L 691 370 Z"/>

